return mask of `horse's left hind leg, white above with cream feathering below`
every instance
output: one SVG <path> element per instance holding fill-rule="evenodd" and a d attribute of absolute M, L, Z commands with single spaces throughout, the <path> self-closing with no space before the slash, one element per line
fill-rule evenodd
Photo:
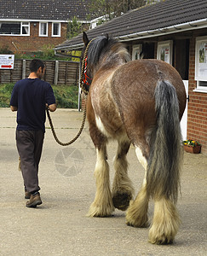
<path fill-rule="evenodd" d="M 147 210 L 149 197 L 147 195 L 147 160 L 143 156 L 140 148 L 136 147 L 135 151 L 138 160 L 145 168 L 145 178 L 140 192 L 136 196 L 135 201 L 131 203 L 126 213 L 126 223 L 131 226 L 144 228 L 148 225 Z"/>

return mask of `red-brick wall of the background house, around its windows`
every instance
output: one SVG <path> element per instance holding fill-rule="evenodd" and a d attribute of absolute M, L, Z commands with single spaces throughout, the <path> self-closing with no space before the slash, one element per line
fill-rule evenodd
<path fill-rule="evenodd" d="M 60 37 L 52 37 L 52 22 L 49 22 L 48 37 L 39 37 L 39 23 L 30 23 L 30 36 L 0 36 L 0 47 L 8 46 L 16 52 L 30 52 L 43 49 L 43 45 L 58 45 L 66 41 L 66 23 L 61 23 Z M 13 43 L 12 43 L 13 42 Z"/>

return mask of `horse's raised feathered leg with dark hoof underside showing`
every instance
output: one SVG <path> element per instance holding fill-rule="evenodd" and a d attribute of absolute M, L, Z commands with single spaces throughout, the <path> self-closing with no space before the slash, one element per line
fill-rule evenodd
<path fill-rule="evenodd" d="M 114 158 L 113 166 L 115 176 L 112 185 L 112 202 L 114 207 L 125 211 L 129 207 L 129 201 L 132 199 L 134 189 L 128 177 L 128 162 L 126 154 L 129 151 L 129 139 L 118 141 L 118 152 Z"/>

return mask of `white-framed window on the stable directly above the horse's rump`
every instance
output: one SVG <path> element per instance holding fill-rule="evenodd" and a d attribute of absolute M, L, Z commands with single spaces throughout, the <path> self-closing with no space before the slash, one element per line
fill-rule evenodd
<path fill-rule="evenodd" d="M 164 54 L 164 58 L 161 57 L 161 54 Z M 162 60 L 172 65 L 172 56 L 173 56 L 173 41 L 162 41 L 158 42 L 157 50 L 157 59 Z"/>

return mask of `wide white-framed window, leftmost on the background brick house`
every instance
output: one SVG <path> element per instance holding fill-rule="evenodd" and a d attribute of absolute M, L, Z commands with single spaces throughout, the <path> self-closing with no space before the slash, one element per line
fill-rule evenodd
<path fill-rule="evenodd" d="M 1 35 L 29 36 L 30 22 L 2 21 L 0 22 Z"/>

